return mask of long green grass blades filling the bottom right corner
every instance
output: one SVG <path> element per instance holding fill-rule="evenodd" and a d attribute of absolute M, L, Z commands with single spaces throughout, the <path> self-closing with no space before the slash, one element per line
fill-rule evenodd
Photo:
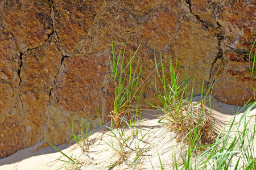
<path fill-rule="evenodd" d="M 254 120 L 253 125 L 249 126 L 253 117 L 248 117 L 248 113 L 255 105 L 255 102 L 251 104 L 238 122 L 235 122 L 236 116 L 244 107 L 236 113 L 236 116 L 220 131 L 216 141 L 208 145 L 208 149 L 197 157 L 196 162 L 194 162 L 195 169 L 199 167 L 203 169 L 228 169 L 232 165 L 236 169 L 253 169 L 255 167 L 253 145 L 256 135 L 256 121 Z M 233 164 L 232 160 L 235 157 L 238 158 L 238 161 Z M 242 167 L 239 167 L 239 163 L 242 164 Z M 191 162 L 191 164 L 193 163 Z"/>

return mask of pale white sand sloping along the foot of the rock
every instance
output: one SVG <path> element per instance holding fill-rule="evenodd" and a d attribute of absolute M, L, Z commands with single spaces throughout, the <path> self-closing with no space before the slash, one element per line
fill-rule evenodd
<path fill-rule="evenodd" d="M 199 99 L 200 97 L 193 98 L 194 101 L 198 101 Z M 234 105 L 223 104 L 216 99 L 212 99 L 211 105 L 213 107 L 213 116 L 218 120 L 226 122 L 228 122 L 233 117 L 233 114 L 240 108 Z M 249 113 L 249 116 L 254 116 L 255 114 L 256 109 L 254 108 Z M 81 163 L 81 169 L 108 169 L 110 165 L 118 162 L 121 163 L 113 169 L 133 169 L 133 161 L 137 158 L 137 155 L 140 154 L 141 156 L 136 161 L 137 166 L 135 169 L 160 169 L 159 156 L 164 169 L 172 169 L 171 165 L 174 162 L 174 155 L 178 158 L 180 154 L 183 154 L 183 151 L 180 150 L 179 144 L 172 138 L 172 133 L 167 130 L 166 126 L 158 123 L 159 117 L 161 116 L 163 116 L 163 113 L 158 110 L 142 112 L 143 119 L 141 124 L 137 124 L 137 126 L 140 125 L 141 127 L 138 131 L 138 137 L 142 139 L 143 136 L 146 135 L 142 141 L 131 137 L 126 142 L 127 146 L 124 147 L 125 150 L 119 152 L 123 155 L 118 154 L 118 152 L 114 150 L 114 148 L 120 150 L 120 148 L 118 148 L 117 139 L 110 136 L 113 134 L 106 127 L 104 127 L 103 130 L 98 128 L 96 132 L 92 134 L 90 139 L 94 139 L 94 143 L 89 146 L 89 151 L 82 152 L 81 148 L 74 144 L 75 142 L 57 146 L 57 148 L 68 156 L 72 155 L 72 159 L 76 159 Z M 238 121 L 240 117 L 241 114 L 237 116 L 236 121 Z M 110 127 L 110 122 L 105 126 Z M 131 134 L 134 134 L 131 129 L 125 130 L 126 138 L 131 136 Z M 126 139 L 125 137 L 124 139 Z M 106 143 L 113 143 L 113 148 Z M 136 147 L 140 149 L 136 151 Z M 57 169 L 63 165 L 64 162 L 56 159 L 68 160 L 54 148 L 48 147 L 46 143 L 39 142 L 7 158 L 0 159 L 0 169 Z M 72 169 L 72 166 L 67 166 L 67 168 Z"/>

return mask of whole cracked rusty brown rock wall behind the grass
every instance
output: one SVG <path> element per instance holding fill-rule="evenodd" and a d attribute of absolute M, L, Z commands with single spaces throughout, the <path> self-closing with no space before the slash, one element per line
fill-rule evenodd
<path fill-rule="evenodd" d="M 84 110 L 109 121 L 113 80 L 108 53 L 139 43 L 143 102 L 156 101 L 154 51 L 171 53 L 184 79 L 196 74 L 224 103 L 253 96 L 249 52 L 256 39 L 256 2 L 233 0 L 2 0 L 0 2 L 0 158 L 49 141 L 67 142 Z M 86 108 L 85 108 L 86 105 Z"/>

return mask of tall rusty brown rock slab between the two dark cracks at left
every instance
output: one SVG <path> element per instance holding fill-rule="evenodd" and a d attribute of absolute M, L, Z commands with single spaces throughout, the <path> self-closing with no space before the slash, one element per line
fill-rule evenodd
<path fill-rule="evenodd" d="M 22 56 L 20 99 L 24 109 L 24 147 L 43 139 L 49 95 L 59 72 L 61 58 L 53 41 Z"/>

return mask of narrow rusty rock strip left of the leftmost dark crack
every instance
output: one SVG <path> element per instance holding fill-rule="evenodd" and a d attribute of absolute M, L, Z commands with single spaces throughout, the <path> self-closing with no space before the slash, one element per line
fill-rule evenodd
<path fill-rule="evenodd" d="M 16 111 L 19 97 L 18 66 L 15 39 L 1 29 L 0 36 L 0 158 L 23 148 L 22 113 Z"/>

